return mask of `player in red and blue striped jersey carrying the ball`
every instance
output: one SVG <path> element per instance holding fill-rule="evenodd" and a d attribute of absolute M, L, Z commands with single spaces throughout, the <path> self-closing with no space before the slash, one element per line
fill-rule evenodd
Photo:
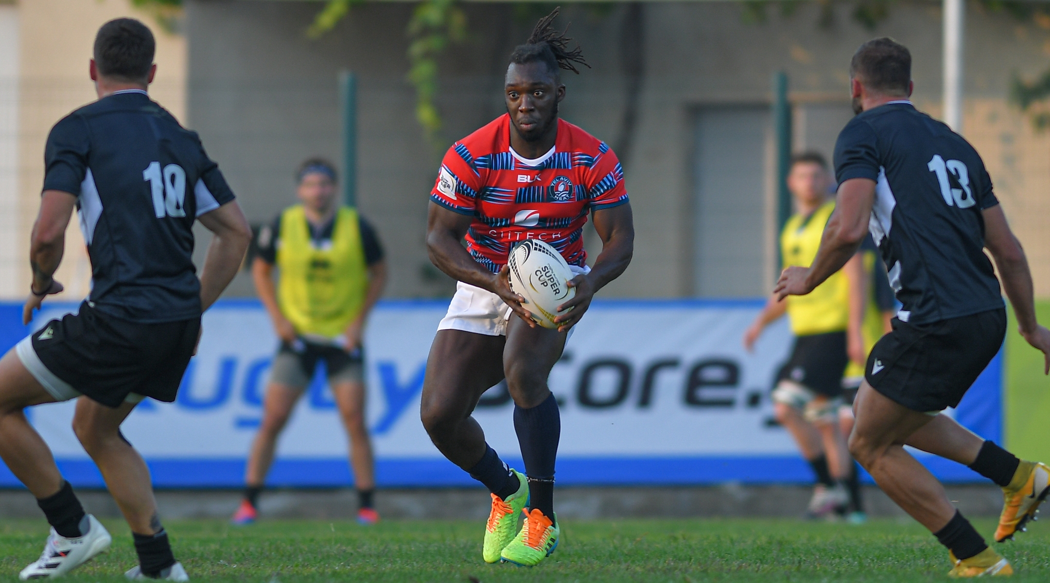
<path fill-rule="evenodd" d="M 558 545 L 561 420 L 547 376 L 570 328 L 594 293 L 624 273 L 634 245 L 615 154 L 558 117 L 565 98 L 560 69 L 579 72 L 574 64 L 586 63 L 579 46 L 569 49 L 570 39 L 551 28 L 556 16 L 558 9 L 541 19 L 510 55 L 507 114 L 449 148 L 427 219 L 430 260 L 459 284 L 430 347 L 421 415 L 441 453 L 492 493 L 482 552 L 489 563 L 534 565 Z M 592 267 L 583 246 L 588 213 L 603 243 Z M 576 274 L 570 282 L 575 297 L 560 306 L 571 311 L 558 317 L 556 330 L 536 325 L 507 283 L 507 256 L 526 239 L 550 243 Z M 481 394 L 503 379 L 514 401 L 526 475 L 500 460 L 470 416 Z"/>

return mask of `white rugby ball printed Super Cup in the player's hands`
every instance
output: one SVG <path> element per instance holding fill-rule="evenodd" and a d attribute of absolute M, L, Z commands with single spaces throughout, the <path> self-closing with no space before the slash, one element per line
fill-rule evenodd
<path fill-rule="evenodd" d="M 562 312 L 558 306 L 576 295 L 569 287 L 574 275 L 562 254 L 539 239 L 528 239 L 510 250 L 507 259 L 510 289 L 525 298 L 522 307 L 544 328 L 558 328 L 554 323 Z"/>

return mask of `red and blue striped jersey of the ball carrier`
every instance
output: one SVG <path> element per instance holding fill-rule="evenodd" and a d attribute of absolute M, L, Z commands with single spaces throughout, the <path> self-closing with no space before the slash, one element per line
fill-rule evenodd
<path fill-rule="evenodd" d="M 430 200 L 474 217 L 467 251 L 492 273 L 526 239 L 549 243 L 582 266 L 587 214 L 628 201 L 620 160 L 604 142 L 559 120 L 554 147 L 528 160 L 510 149 L 506 113 L 448 149 Z"/>

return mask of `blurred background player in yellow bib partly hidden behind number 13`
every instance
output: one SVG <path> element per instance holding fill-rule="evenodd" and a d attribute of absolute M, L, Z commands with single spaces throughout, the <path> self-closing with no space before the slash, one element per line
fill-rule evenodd
<path fill-rule="evenodd" d="M 805 152 L 792 158 L 788 189 L 797 212 L 780 235 L 785 267 L 808 265 L 816 256 L 820 234 L 835 210 L 831 186 L 827 161 L 821 154 Z M 861 340 L 865 299 L 862 267 L 858 255 L 805 298 L 770 298 L 743 337 L 744 346 L 752 350 L 765 326 L 788 314 L 795 345 L 777 375 L 773 407 L 777 422 L 792 434 L 816 474 L 817 485 L 807 509 L 813 518 L 843 509 L 849 500 L 853 460 L 838 410 L 846 365 L 850 359 L 863 361 L 865 355 Z"/>

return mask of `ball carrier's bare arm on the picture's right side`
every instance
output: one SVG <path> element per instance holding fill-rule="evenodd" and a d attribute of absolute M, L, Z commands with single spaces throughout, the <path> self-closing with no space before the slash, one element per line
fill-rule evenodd
<path fill-rule="evenodd" d="M 576 276 L 569 282 L 576 288 L 576 295 L 558 306 L 559 311 L 572 308 L 554 319 L 559 331 L 568 330 L 583 318 L 594 293 L 620 277 L 634 255 L 634 218 L 629 202 L 594 211 L 593 218 L 594 231 L 602 238 L 602 253 L 589 274 Z"/>

